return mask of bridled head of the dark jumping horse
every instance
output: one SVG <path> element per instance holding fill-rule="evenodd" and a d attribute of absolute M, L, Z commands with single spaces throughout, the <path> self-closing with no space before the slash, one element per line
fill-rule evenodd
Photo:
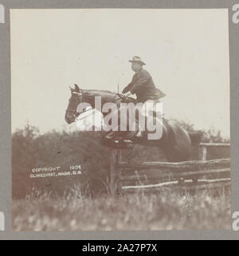
<path fill-rule="evenodd" d="M 82 89 L 79 88 L 78 85 L 75 85 L 75 88 L 71 90 L 71 97 L 69 99 L 69 104 L 65 112 L 65 121 L 68 124 L 71 124 L 76 120 L 76 117 L 79 116 L 79 113 L 76 112 L 78 104 L 82 102 L 83 93 Z"/>

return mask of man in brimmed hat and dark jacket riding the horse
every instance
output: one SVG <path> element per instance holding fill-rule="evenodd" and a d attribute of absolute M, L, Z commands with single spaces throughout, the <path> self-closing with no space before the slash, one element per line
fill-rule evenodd
<path fill-rule="evenodd" d="M 146 69 L 143 69 L 143 65 L 146 65 L 145 62 L 143 62 L 139 56 L 133 57 L 129 62 L 131 62 L 131 69 L 135 72 L 135 74 L 131 83 L 128 84 L 122 91 L 123 100 L 125 100 L 128 96 L 135 94 L 137 102 L 143 103 L 143 108 L 148 103 L 159 103 L 159 99 L 165 96 L 165 94 L 156 88 L 151 74 L 148 73 Z M 109 132 L 106 139 L 114 140 L 117 135 L 117 131 Z M 140 127 L 135 136 L 138 138 L 143 136 L 143 132 L 141 131 Z M 130 140 L 124 140 L 123 138 L 117 142 L 118 144 L 121 144 L 121 146 L 123 146 L 123 144 L 126 146 L 127 144 L 131 143 Z"/>

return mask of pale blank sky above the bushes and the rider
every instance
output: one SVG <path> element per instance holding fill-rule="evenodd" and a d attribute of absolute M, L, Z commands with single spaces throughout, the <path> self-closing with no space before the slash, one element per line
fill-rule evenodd
<path fill-rule="evenodd" d="M 229 137 L 228 10 L 11 10 L 10 24 L 12 132 L 68 127 L 69 85 L 122 90 L 138 55 L 167 118 Z"/>

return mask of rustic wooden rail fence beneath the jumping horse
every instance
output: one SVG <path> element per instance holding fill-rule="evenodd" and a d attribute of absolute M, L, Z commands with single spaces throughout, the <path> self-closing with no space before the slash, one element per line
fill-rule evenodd
<path fill-rule="evenodd" d="M 206 160 L 207 148 L 229 148 L 230 144 L 199 144 L 199 160 L 179 163 L 129 163 L 121 160 L 121 152 L 113 149 L 111 155 L 110 191 L 196 191 L 230 186 L 230 160 Z"/>

